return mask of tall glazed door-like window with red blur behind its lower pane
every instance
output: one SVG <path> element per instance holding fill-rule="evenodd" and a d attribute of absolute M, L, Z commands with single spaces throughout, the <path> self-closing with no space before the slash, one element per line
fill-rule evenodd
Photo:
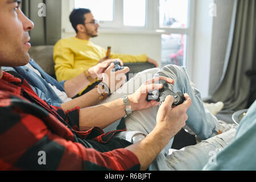
<path fill-rule="evenodd" d="M 162 65 L 176 64 L 192 68 L 194 0 L 159 0 L 159 29 Z"/>

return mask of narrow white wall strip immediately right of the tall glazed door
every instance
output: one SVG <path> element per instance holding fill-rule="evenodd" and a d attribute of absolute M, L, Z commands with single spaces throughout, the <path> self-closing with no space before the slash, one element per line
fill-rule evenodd
<path fill-rule="evenodd" d="M 212 47 L 213 18 L 209 16 L 209 4 L 213 0 L 197 0 L 195 15 L 195 42 L 193 58 L 193 77 L 202 97 L 208 96 L 210 51 Z"/>

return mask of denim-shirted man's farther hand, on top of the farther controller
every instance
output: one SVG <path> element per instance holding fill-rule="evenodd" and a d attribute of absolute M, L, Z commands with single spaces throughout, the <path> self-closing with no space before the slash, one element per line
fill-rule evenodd
<path fill-rule="evenodd" d="M 123 65 L 123 61 L 120 60 L 120 59 L 105 60 L 102 63 L 98 63 L 94 67 L 90 67 L 88 69 L 88 72 L 89 72 L 90 76 L 93 77 L 94 79 L 97 78 L 97 77 L 100 77 L 101 73 L 104 73 L 106 68 L 108 68 L 109 64 L 114 62 L 114 61 L 118 61 L 121 66 Z"/>

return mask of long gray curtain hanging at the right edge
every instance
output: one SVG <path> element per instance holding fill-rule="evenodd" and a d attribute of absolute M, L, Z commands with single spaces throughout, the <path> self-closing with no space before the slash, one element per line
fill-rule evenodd
<path fill-rule="evenodd" d="M 247 106 L 251 78 L 246 71 L 253 69 L 256 61 L 255 32 L 256 1 L 235 0 L 224 72 L 212 95 L 213 101 L 224 102 L 224 110 L 236 111 Z"/>

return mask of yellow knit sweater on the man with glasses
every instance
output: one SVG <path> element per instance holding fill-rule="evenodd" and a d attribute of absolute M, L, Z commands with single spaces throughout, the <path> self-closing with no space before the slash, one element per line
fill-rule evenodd
<path fill-rule="evenodd" d="M 93 67 L 106 56 L 106 49 L 78 38 L 64 38 L 59 40 L 53 49 L 55 75 L 58 81 L 70 80 L 80 75 L 86 69 Z M 111 53 L 110 59 L 121 59 L 124 63 L 146 62 L 147 56 L 123 55 Z M 93 83 L 90 83 L 90 85 Z M 84 88 L 83 90 L 85 90 Z M 82 91 L 83 91 L 82 90 Z M 81 91 L 81 92 L 82 92 Z M 81 93 L 80 92 L 80 93 Z"/>

